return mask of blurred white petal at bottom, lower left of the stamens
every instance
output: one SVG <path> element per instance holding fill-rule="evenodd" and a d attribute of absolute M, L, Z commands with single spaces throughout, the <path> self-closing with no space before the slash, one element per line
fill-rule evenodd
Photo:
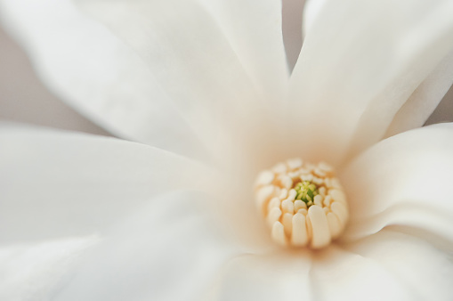
<path fill-rule="evenodd" d="M 195 191 L 152 199 L 86 256 L 55 300 L 200 300 L 238 254 L 222 236 L 211 200 Z"/>

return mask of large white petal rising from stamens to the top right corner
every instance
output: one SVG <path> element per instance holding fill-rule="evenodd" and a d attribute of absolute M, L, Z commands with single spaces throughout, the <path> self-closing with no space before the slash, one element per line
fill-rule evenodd
<path fill-rule="evenodd" d="M 384 136 L 452 47 L 448 0 L 327 1 L 291 78 L 288 128 L 310 128 L 320 147 L 307 153 L 341 162 Z"/>

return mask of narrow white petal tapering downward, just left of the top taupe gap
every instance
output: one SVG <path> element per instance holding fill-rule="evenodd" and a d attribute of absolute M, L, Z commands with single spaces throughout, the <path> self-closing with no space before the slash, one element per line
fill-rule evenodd
<path fill-rule="evenodd" d="M 283 45 L 280 0 L 200 0 L 228 38 L 239 61 L 264 94 L 277 101 L 289 72 Z"/>

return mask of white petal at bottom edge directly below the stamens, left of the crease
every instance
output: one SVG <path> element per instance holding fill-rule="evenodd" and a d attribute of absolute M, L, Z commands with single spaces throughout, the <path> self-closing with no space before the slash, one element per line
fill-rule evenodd
<path fill-rule="evenodd" d="M 249 255 L 229 262 L 211 300 L 311 300 L 309 252 Z"/>

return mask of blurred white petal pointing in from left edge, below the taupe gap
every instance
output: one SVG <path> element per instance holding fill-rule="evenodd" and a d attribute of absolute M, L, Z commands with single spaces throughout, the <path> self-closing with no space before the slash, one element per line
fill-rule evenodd
<path fill-rule="evenodd" d="M 2 126 L 0 145 L 4 242 L 102 231 L 158 193 L 210 181 L 189 159 L 114 138 Z"/>

